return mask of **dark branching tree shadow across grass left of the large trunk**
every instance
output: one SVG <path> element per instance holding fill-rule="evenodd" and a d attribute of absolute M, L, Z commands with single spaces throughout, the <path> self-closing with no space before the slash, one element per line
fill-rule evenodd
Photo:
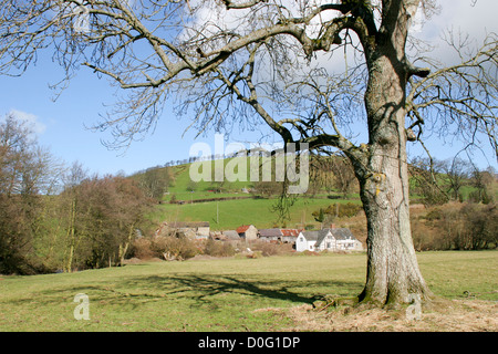
<path fill-rule="evenodd" d="M 124 278 L 113 283 L 94 282 L 89 284 L 58 287 L 38 292 L 37 296 L 25 296 L 9 301 L 12 305 L 71 303 L 77 293 L 85 293 L 91 302 L 98 301 L 113 305 L 126 304 L 138 308 L 148 302 L 175 301 L 189 306 L 238 305 L 248 301 L 268 303 L 278 300 L 291 303 L 312 303 L 318 295 L 309 289 L 333 289 L 334 293 L 345 294 L 359 291 L 360 282 L 347 281 L 305 281 L 279 280 L 268 278 L 243 279 L 242 275 L 227 274 L 168 274 L 164 277 Z M 221 298 L 220 298 L 221 296 Z M 271 301 L 270 301 L 271 302 Z"/>

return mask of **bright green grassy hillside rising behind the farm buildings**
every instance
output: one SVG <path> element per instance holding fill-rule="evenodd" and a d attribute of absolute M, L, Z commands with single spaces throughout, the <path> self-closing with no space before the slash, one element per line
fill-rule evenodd
<path fill-rule="evenodd" d="M 224 166 L 230 160 L 232 159 L 225 159 Z M 215 162 L 210 163 L 214 171 Z M 209 221 L 211 230 L 235 229 L 249 223 L 258 228 L 294 228 L 307 225 L 318 228 L 320 222 L 314 220 L 311 215 L 313 211 L 335 202 L 361 204 L 357 192 L 351 194 L 350 199 L 340 199 L 339 192 L 324 190 L 314 196 L 303 195 L 299 196 L 291 207 L 290 219 L 282 222 L 273 210 L 278 201 L 277 195 L 260 198 L 248 192 L 255 187 L 255 183 L 249 180 L 249 163 L 246 181 L 193 183 L 189 168 L 190 164 L 160 168 L 164 174 L 169 174 L 170 184 L 162 204 L 151 216 L 153 222 Z"/>

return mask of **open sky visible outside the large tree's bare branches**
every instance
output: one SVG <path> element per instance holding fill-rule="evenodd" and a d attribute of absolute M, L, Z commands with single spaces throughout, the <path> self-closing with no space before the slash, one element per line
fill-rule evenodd
<path fill-rule="evenodd" d="M 450 27 L 461 28 L 476 38 L 481 38 L 485 31 L 498 32 L 498 1 L 478 0 L 471 7 L 470 0 L 439 1 L 442 12 L 424 27 L 422 34 L 437 40 L 442 30 Z M 79 160 L 90 171 L 98 174 L 125 174 L 164 165 L 168 160 L 188 157 L 189 148 L 195 142 L 205 142 L 214 147 L 214 133 L 206 137 L 194 139 L 195 132 L 185 128 L 188 122 L 178 121 L 166 108 L 158 119 L 154 133 L 142 142 L 135 142 L 126 150 L 110 150 L 101 140 L 111 138 L 110 132 L 92 132 L 92 126 L 100 121 L 98 114 L 104 114 L 104 104 L 112 104 L 115 88 L 106 80 L 98 80 L 90 70 L 80 70 L 69 87 L 53 102 L 55 92 L 49 88 L 62 79 L 63 72 L 49 56 L 41 56 L 37 66 L 32 66 L 21 77 L 0 76 L 0 116 L 15 112 L 19 117 L 34 123 L 39 142 L 49 146 L 51 153 L 71 164 Z M 258 133 L 251 133 L 249 140 L 257 142 Z M 237 134 L 230 140 L 241 140 Z M 428 142 L 433 156 L 445 159 L 454 156 L 458 146 L 445 145 L 439 142 Z M 421 150 L 412 146 L 408 152 L 416 155 Z M 465 155 L 464 155 L 465 156 Z M 487 165 L 498 169 L 496 158 L 489 144 L 484 153 L 473 155 L 474 162 L 484 168 Z"/>

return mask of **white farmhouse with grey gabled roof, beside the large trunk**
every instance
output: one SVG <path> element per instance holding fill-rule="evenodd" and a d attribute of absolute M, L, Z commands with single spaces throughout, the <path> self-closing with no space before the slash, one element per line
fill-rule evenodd
<path fill-rule="evenodd" d="M 309 251 L 361 251 L 363 244 L 350 229 L 323 229 L 320 231 L 302 231 L 295 241 L 295 250 Z"/>

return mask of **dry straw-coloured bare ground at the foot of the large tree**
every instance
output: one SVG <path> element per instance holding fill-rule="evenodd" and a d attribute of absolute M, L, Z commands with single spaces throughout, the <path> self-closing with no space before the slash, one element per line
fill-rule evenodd
<path fill-rule="evenodd" d="M 407 315 L 406 309 L 342 306 L 320 312 L 311 305 L 301 305 L 280 311 L 294 322 L 288 331 L 498 332 L 496 301 L 445 300 L 430 309 L 422 308 L 418 319 Z"/>

